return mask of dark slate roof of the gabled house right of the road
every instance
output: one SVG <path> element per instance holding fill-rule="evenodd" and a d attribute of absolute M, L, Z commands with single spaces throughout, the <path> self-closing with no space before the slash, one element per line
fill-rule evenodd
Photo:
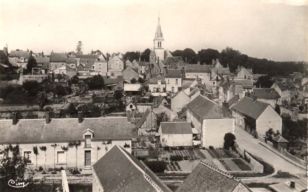
<path fill-rule="evenodd" d="M 251 118 L 257 119 L 269 105 L 269 103 L 261 102 L 258 100 L 253 102 L 253 98 L 245 96 L 232 108 Z"/>

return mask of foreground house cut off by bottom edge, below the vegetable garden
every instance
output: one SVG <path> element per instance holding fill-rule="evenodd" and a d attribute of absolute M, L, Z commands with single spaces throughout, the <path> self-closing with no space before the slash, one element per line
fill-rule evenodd
<path fill-rule="evenodd" d="M 251 192 L 251 190 L 234 176 L 200 161 L 187 176 L 176 192 L 223 191 Z"/>

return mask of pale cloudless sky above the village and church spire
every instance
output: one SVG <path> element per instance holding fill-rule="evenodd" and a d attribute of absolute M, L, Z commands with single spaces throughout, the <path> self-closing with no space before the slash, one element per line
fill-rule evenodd
<path fill-rule="evenodd" d="M 308 0 L 0 0 L 0 49 L 144 51 L 158 16 L 164 48 L 227 46 L 250 57 L 308 61 Z"/>

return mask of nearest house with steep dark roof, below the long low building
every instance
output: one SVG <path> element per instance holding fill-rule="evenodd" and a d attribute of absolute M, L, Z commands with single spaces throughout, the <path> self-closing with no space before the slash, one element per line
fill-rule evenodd
<path fill-rule="evenodd" d="M 92 192 L 172 192 L 123 145 L 113 146 L 92 169 Z"/>

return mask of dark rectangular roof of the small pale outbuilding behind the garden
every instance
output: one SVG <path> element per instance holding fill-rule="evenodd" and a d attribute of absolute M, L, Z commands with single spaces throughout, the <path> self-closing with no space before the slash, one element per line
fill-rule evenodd
<path fill-rule="evenodd" d="M 161 122 L 162 134 L 188 134 L 193 133 L 190 122 Z"/>

